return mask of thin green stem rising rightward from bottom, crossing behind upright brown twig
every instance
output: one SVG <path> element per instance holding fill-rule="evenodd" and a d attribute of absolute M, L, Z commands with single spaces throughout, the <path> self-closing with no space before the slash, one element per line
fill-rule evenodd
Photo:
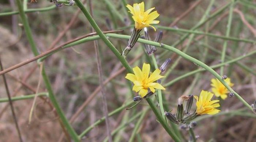
<path fill-rule="evenodd" d="M 108 114 L 109 117 L 111 117 L 114 114 L 119 113 L 120 111 L 124 110 L 125 107 L 130 106 L 132 103 L 134 103 L 133 101 L 128 102 L 127 104 L 117 108 L 116 110 L 112 111 L 111 113 Z M 99 125 L 100 123 L 105 121 L 105 117 L 102 117 L 101 119 L 99 119 L 98 121 L 96 121 L 95 123 L 93 123 L 93 125 L 87 127 L 86 130 L 84 130 L 78 137 L 81 139 L 84 135 L 86 135 L 87 133 L 89 133 L 95 126 Z"/>

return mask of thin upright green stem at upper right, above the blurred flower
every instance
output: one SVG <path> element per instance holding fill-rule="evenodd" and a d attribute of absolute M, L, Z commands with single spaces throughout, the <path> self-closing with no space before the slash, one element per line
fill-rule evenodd
<path fill-rule="evenodd" d="M 233 17 L 233 10 L 234 10 L 234 0 L 232 0 L 232 3 L 230 5 L 229 9 L 229 20 L 227 21 L 227 31 L 226 31 L 226 37 L 229 37 L 230 30 L 231 30 L 231 24 L 232 24 L 232 17 Z M 223 48 L 222 48 L 222 54 L 221 54 L 221 62 L 223 63 L 225 61 L 225 55 L 227 50 L 227 40 L 224 41 Z M 220 75 L 223 75 L 224 66 L 221 67 Z"/>

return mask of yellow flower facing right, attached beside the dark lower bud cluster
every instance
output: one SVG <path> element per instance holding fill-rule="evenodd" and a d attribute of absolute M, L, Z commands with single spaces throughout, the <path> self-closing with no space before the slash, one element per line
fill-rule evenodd
<path fill-rule="evenodd" d="M 198 96 L 194 96 L 196 99 L 196 114 L 210 114 L 214 115 L 219 113 L 220 110 L 215 109 L 219 107 L 219 100 L 211 100 L 213 94 L 208 91 L 202 90 L 198 99 Z"/>

